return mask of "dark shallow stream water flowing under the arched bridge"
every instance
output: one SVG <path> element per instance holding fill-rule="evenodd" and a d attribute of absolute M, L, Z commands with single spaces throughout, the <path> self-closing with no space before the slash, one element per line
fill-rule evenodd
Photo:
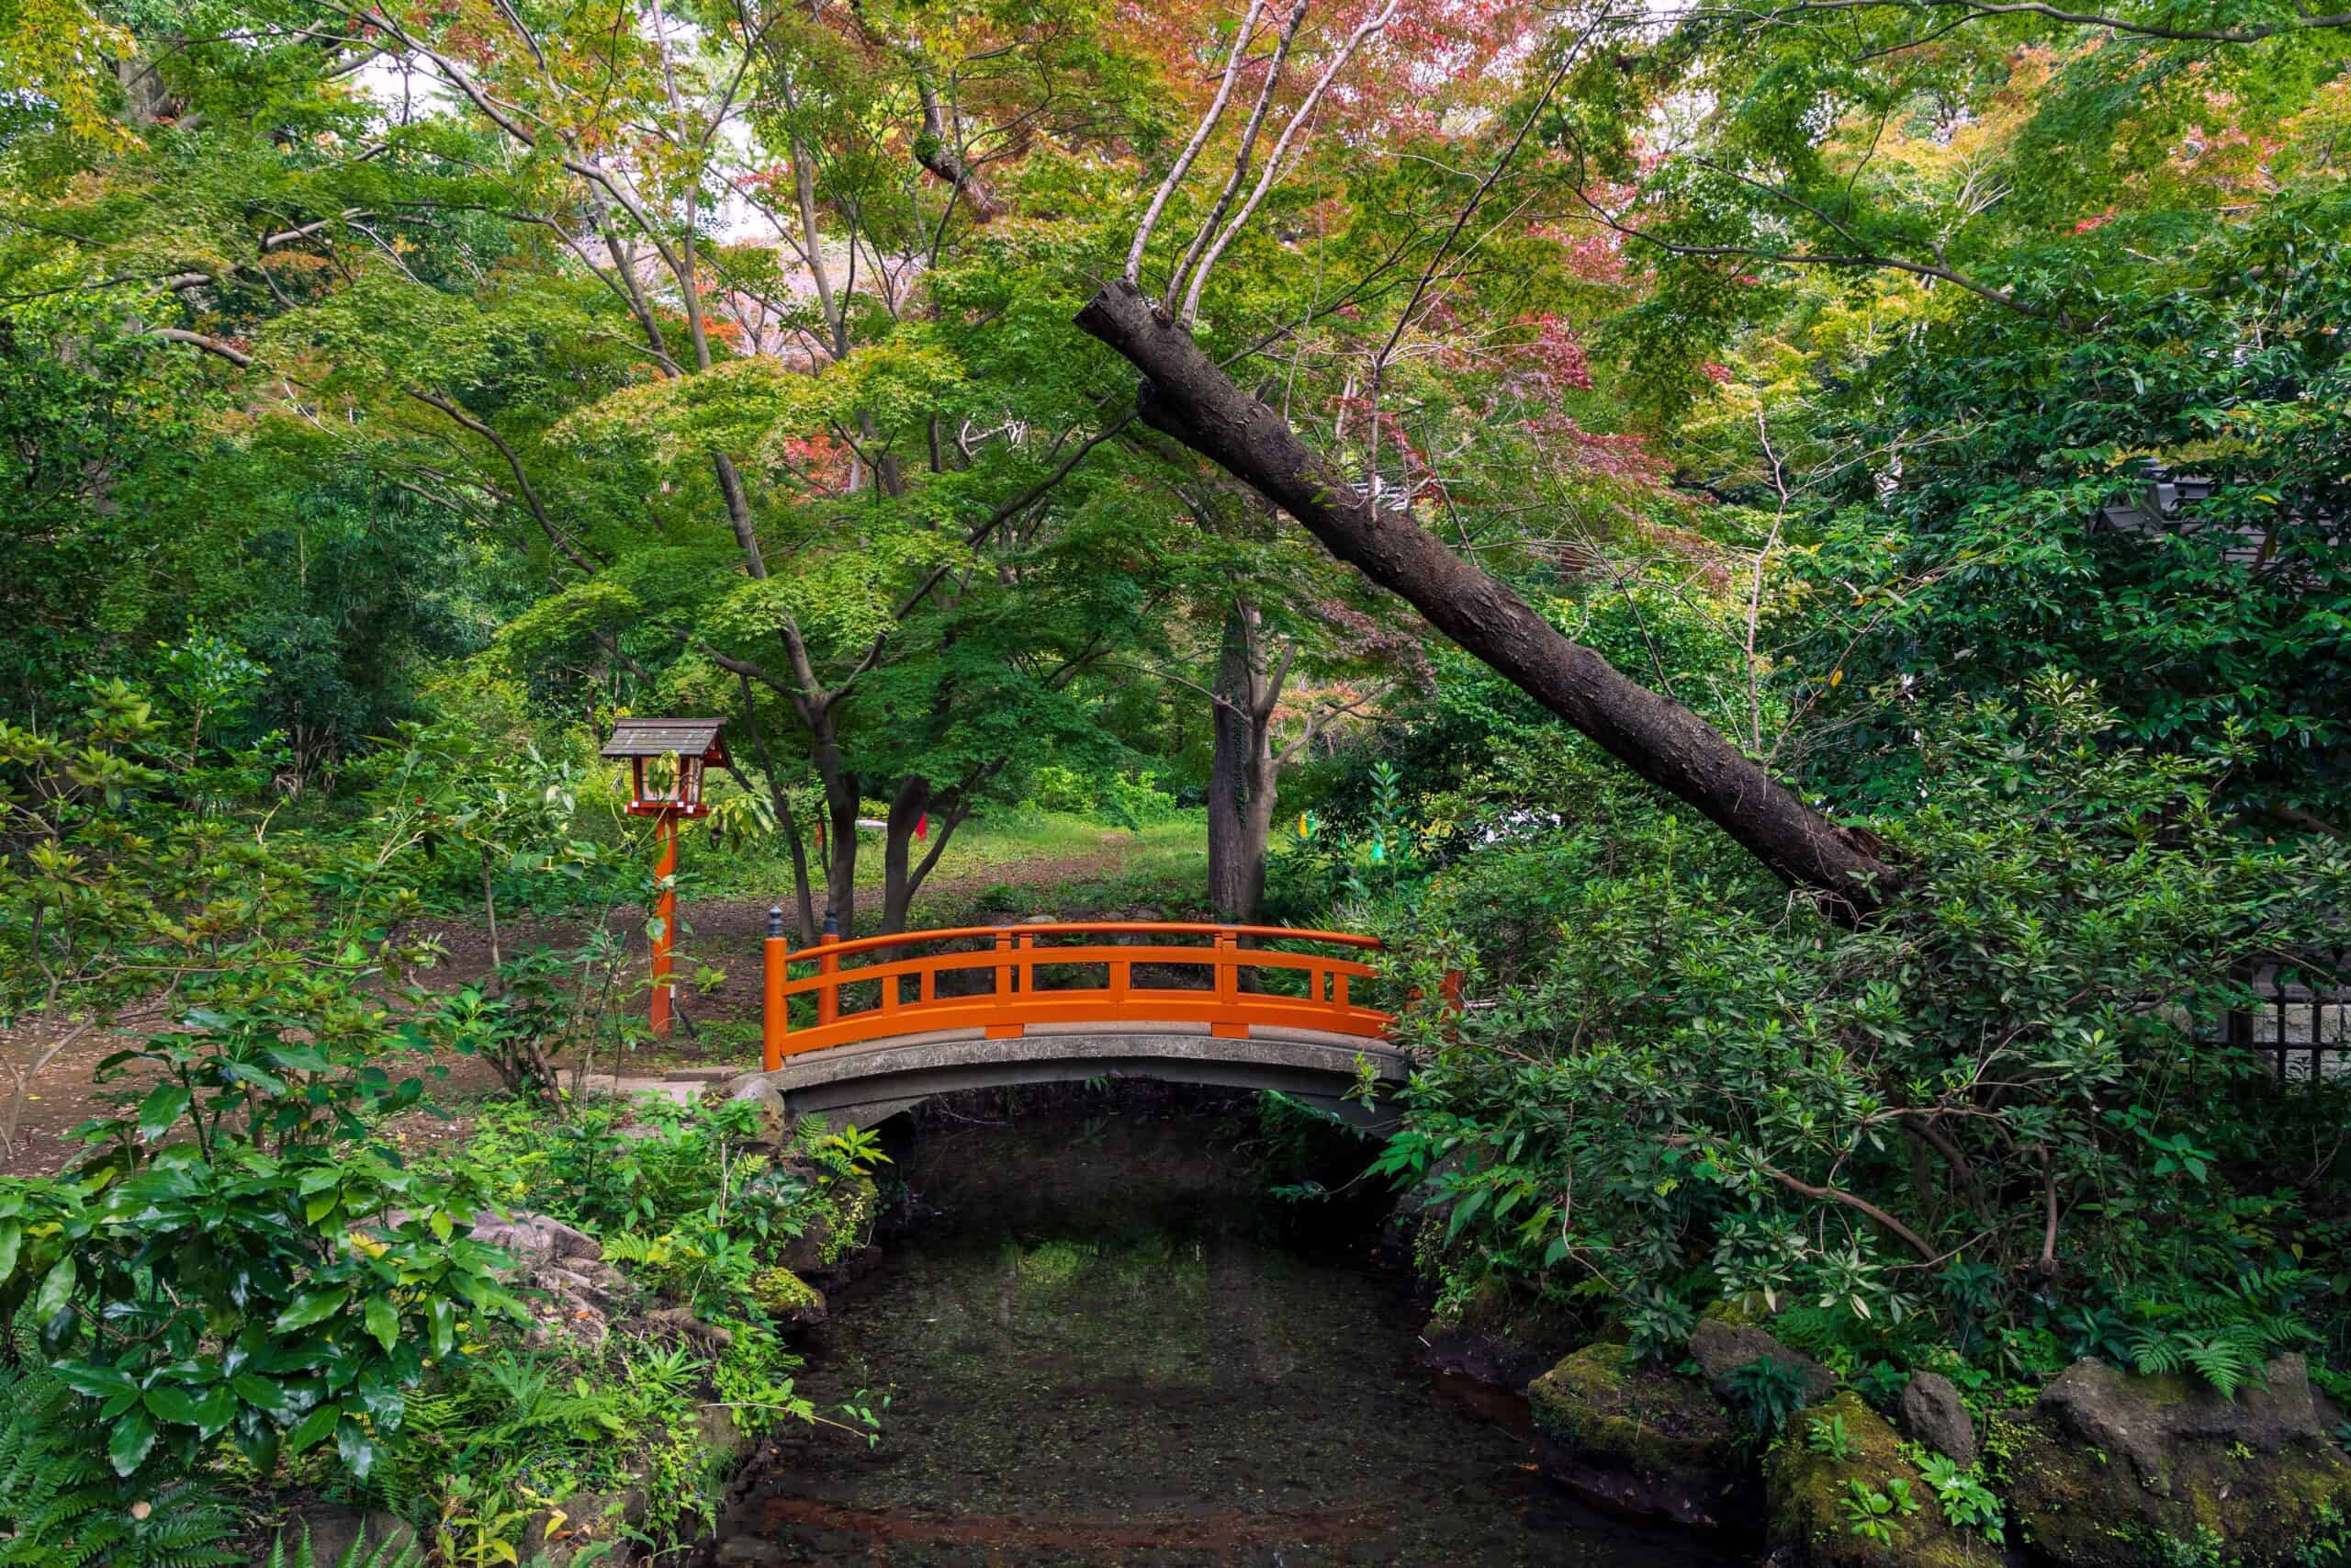
<path fill-rule="evenodd" d="M 1538 1474 L 1523 1403 L 1422 1366 L 1359 1229 L 1270 1222 L 1253 1133 L 1199 1112 L 924 1131 L 900 1175 L 926 1218 L 811 1331 L 799 1380 L 818 1406 L 889 1392 L 882 1441 L 783 1434 L 717 1561 L 1742 1561 Z"/>

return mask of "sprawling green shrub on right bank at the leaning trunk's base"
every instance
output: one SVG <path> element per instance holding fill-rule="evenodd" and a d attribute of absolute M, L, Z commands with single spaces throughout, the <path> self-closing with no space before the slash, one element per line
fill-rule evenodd
<path fill-rule="evenodd" d="M 2280 1098 L 2342 1093 L 2198 1039 L 2248 964 L 2339 936 L 2344 856 L 2243 837 L 2203 764 L 2116 745 L 2062 679 L 1963 712 L 1918 766 L 1886 825 L 1914 882 L 1867 929 L 1620 816 L 1540 971 L 1415 1013 L 1385 1166 L 1448 1213 L 1441 1267 L 1627 1319 L 1780 1307 L 1848 1373 L 1949 1340 L 2010 1378 L 2109 1354 L 2233 1387 L 2323 1333 L 2339 1281 L 2297 1260 L 2339 1237 Z M 1476 860 L 1413 917 L 1505 875 Z"/>

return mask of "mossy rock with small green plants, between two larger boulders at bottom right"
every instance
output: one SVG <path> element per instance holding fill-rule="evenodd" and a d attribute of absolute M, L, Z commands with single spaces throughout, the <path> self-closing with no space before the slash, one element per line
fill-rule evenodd
<path fill-rule="evenodd" d="M 1838 1420 L 1846 1429 L 1850 1455 L 1843 1460 L 1815 1453 L 1808 1434 L 1815 1422 Z M 1895 1509 L 1883 1516 L 1890 1542 L 1853 1533 L 1846 1500 L 1853 1483 L 1862 1483 L 1888 1497 L 1900 1488 L 1909 1493 L 1911 1512 Z M 1935 1507 L 1933 1488 L 1918 1476 L 1918 1467 L 1902 1458 L 1902 1439 L 1850 1389 L 1824 1406 L 1801 1410 L 1789 1422 L 1789 1432 L 1763 1460 L 1763 1500 L 1770 1509 L 1770 1544 L 1775 1563 L 1810 1568 L 1893 1568 L 1916 1563 L 1918 1568 L 1961 1568 L 1977 1563 L 1994 1568 L 2001 1561 L 1998 1547 L 1949 1528 L 1942 1509 Z"/>

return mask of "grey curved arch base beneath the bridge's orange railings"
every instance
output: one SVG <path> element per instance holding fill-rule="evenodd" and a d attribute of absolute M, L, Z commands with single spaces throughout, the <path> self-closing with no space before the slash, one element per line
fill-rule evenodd
<path fill-rule="evenodd" d="M 1371 1105 L 1349 1100 L 1357 1063 L 1371 1065 L 1380 1093 Z M 1331 1110 L 1368 1131 L 1396 1124 L 1394 1091 L 1411 1058 L 1352 1034 L 1255 1027 L 1225 1039 L 1208 1025 L 1030 1025 L 1013 1039 L 985 1030 L 933 1030 L 788 1056 L 764 1077 L 795 1117 L 828 1117 L 872 1126 L 924 1100 L 966 1088 L 1011 1084 L 1074 1084 L 1098 1077 L 1277 1088 Z"/>

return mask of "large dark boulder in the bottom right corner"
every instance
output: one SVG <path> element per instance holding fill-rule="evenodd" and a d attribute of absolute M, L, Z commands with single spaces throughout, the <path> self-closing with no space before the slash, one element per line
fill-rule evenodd
<path fill-rule="evenodd" d="M 2184 1373 L 2078 1361 L 2001 1446 L 2017 1533 L 2069 1568 L 2137 1568 L 2168 1542 L 2245 1568 L 2297 1563 L 2351 1519 L 2351 1462 L 2302 1356 L 2278 1356 L 2266 1387 L 2236 1399 Z"/>

